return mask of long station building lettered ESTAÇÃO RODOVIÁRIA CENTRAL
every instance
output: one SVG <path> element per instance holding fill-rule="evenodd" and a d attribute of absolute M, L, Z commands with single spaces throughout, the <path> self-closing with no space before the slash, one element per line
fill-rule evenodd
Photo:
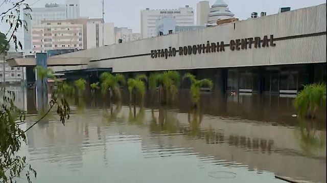
<path fill-rule="evenodd" d="M 77 71 L 178 70 L 211 78 L 224 92 L 295 94 L 305 84 L 326 80 L 325 15 L 322 4 L 58 57 L 91 58 L 71 68 Z"/>

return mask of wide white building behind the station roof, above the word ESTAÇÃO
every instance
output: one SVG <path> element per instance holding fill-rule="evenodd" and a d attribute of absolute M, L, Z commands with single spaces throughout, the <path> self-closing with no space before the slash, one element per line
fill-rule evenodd
<path fill-rule="evenodd" d="M 186 5 L 178 9 L 159 9 L 141 11 L 141 37 L 148 38 L 157 36 L 156 21 L 164 16 L 172 16 L 176 19 L 176 26 L 194 25 L 194 10 Z"/>

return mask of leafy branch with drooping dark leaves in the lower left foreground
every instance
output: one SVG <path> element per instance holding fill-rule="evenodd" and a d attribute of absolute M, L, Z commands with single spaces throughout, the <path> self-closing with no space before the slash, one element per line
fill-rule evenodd
<path fill-rule="evenodd" d="M 54 90 L 49 110 L 26 130 L 22 130 L 19 124 L 24 123 L 25 113 L 14 105 L 15 95 L 13 91 L 1 90 L 0 98 L 0 182 L 11 183 L 20 178 L 24 171 L 28 182 L 31 176 L 36 177 L 36 171 L 26 163 L 26 157 L 18 155 L 21 143 L 26 143 L 26 132 L 37 123 L 42 121 L 51 109 L 57 106 L 57 114 L 62 124 L 69 119 L 69 105 L 58 90 Z"/>

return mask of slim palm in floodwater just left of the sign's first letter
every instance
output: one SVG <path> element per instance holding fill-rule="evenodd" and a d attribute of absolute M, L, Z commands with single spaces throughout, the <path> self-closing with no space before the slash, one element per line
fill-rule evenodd
<path fill-rule="evenodd" d="M 137 75 L 135 78 L 129 78 L 127 81 L 128 90 L 129 90 L 129 102 L 132 103 L 132 94 L 134 94 L 134 105 L 136 100 L 136 93 L 141 95 L 141 101 L 143 104 L 143 99 L 145 95 L 145 83 L 143 80 L 147 80 L 147 76 L 145 74 Z"/>

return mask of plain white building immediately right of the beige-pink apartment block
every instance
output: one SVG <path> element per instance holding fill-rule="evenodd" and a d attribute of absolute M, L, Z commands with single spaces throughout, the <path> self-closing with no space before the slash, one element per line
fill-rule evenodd
<path fill-rule="evenodd" d="M 86 25 L 87 49 L 114 44 L 113 23 L 104 23 L 102 18 L 89 19 Z"/>

